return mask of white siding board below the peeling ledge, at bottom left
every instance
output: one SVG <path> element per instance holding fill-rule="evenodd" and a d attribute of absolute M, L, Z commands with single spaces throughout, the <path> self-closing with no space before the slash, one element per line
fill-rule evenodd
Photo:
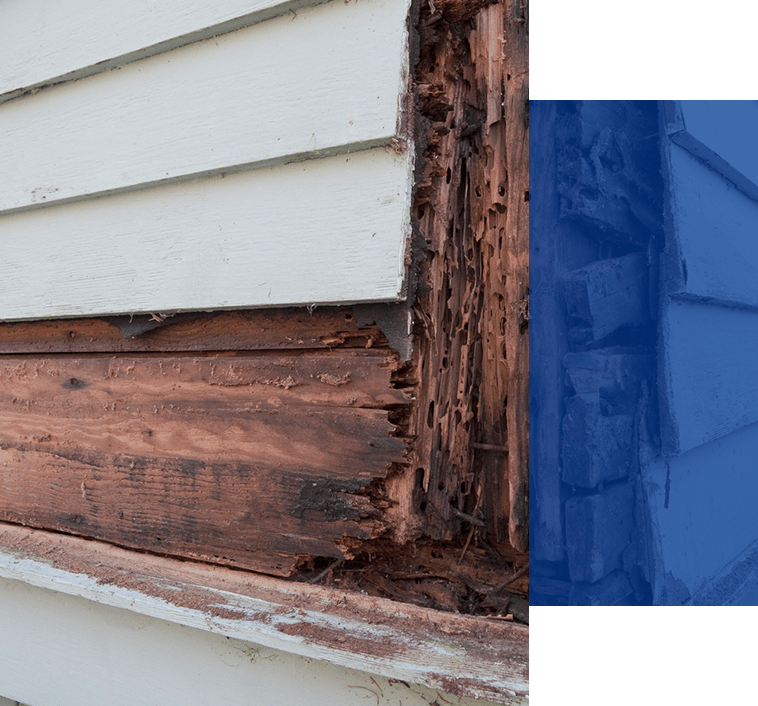
<path fill-rule="evenodd" d="M 32 706 L 486 703 L 5 579 L 0 634 L 0 688 Z"/>

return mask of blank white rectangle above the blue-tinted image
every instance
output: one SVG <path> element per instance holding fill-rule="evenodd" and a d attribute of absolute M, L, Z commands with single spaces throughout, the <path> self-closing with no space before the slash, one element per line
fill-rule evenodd
<path fill-rule="evenodd" d="M 531 0 L 529 97 L 758 98 L 755 0 Z"/>

